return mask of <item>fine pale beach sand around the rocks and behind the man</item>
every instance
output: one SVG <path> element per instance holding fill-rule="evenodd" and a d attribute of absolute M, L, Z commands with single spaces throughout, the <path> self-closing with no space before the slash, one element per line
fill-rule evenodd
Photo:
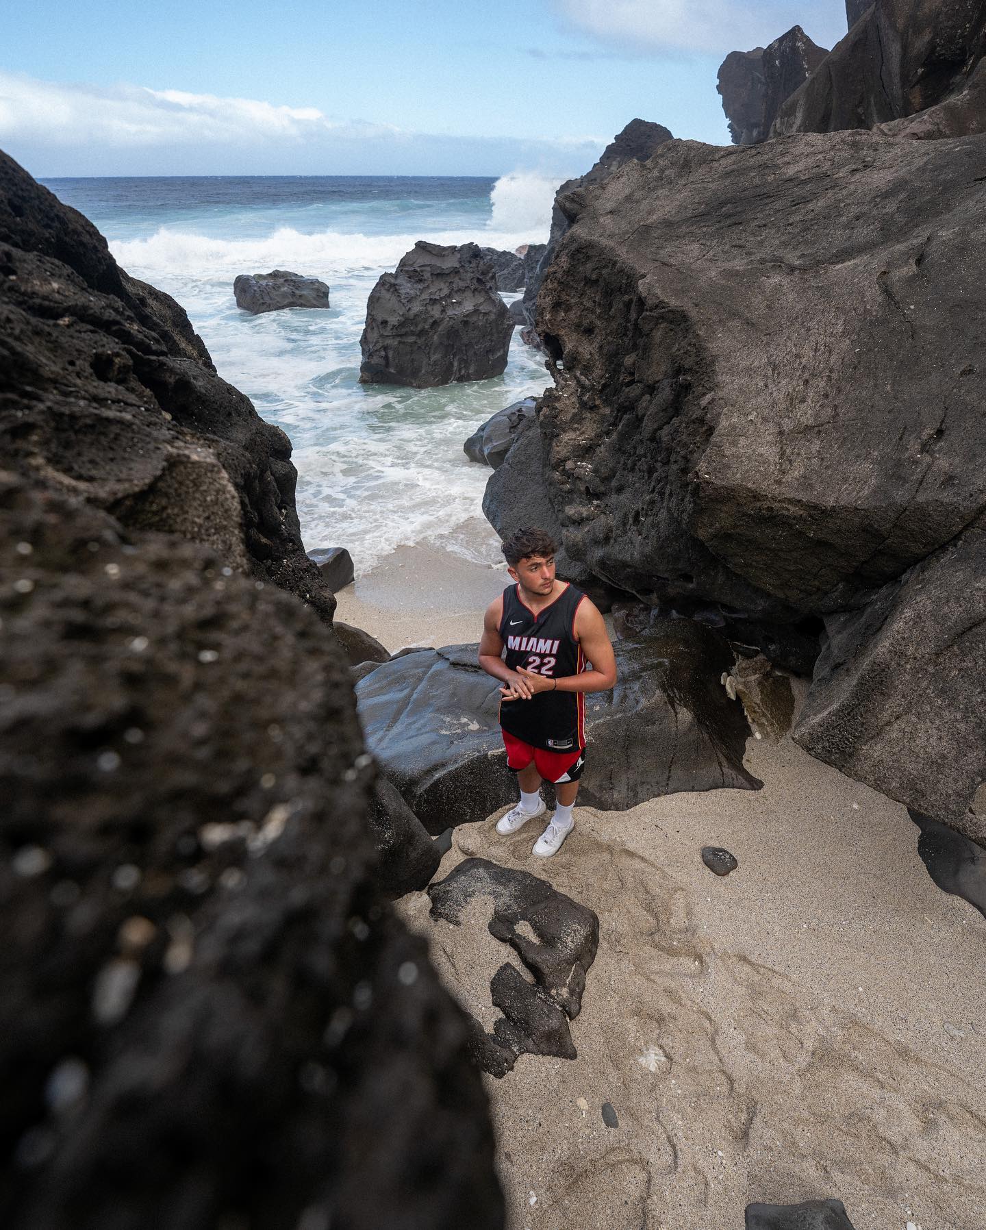
<path fill-rule="evenodd" d="M 387 647 L 476 640 L 503 574 L 409 565 L 341 617 Z M 856 1230 L 986 1224 L 986 919 L 934 886 L 900 804 L 789 739 L 751 740 L 747 765 L 763 790 L 577 807 L 551 860 L 531 855 L 538 822 L 456 830 L 436 878 L 478 855 L 600 919 L 578 1059 L 487 1079 L 511 1230 L 741 1230 L 747 1203 L 821 1197 Z M 739 868 L 713 876 L 703 845 Z M 423 893 L 398 909 L 489 1028 L 489 978 L 515 957 L 482 905 L 459 927 Z"/>

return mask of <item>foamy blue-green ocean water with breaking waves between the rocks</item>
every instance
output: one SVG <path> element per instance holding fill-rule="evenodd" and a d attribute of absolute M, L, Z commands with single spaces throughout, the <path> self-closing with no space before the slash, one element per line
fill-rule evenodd
<path fill-rule="evenodd" d="M 219 374 L 290 435 L 309 550 L 347 547 L 357 574 L 401 545 L 495 558 L 482 520 L 491 471 L 467 461 L 462 442 L 550 384 L 542 355 L 516 330 L 494 380 L 360 385 L 359 338 L 376 279 L 416 240 L 545 242 L 553 183 L 526 175 L 44 182 L 98 226 L 129 273 L 178 300 Z M 240 311 L 234 278 L 273 268 L 327 282 L 331 308 Z"/>

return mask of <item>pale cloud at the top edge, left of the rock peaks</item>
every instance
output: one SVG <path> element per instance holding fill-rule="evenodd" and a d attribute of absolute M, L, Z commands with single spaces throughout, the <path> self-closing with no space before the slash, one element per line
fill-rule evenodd
<path fill-rule="evenodd" d="M 846 33 L 842 0 L 554 0 L 554 5 L 585 33 L 638 49 L 749 50 L 795 23 L 826 47 Z"/>

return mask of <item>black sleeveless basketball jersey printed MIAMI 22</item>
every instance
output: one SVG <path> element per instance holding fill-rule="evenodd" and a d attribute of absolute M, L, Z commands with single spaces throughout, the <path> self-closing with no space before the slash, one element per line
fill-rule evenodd
<path fill-rule="evenodd" d="M 567 585 L 537 615 L 524 604 L 520 585 L 503 592 L 500 638 L 504 661 L 511 670 L 524 667 L 548 679 L 577 675 L 585 669 L 582 646 L 575 640 L 575 611 L 585 594 Z M 585 747 L 584 692 L 538 692 L 530 700 L 500 704 L 500 726 L 532 748 L 568 752 Z"/>

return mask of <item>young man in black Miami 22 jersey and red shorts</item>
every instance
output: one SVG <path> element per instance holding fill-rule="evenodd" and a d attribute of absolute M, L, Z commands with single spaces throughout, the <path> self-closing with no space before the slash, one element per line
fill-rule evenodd
<path fill-rule="evenodd" d="M 502 834 L 546 811 L 541 781 L 554 784 L 557 808 L 534 852 L 557 854 L 572 831 L 572 808 L 585 766 L 585 692 L 616 683 L 606 625 L 596 606 L 554 576 L 550 534 L 521 529 L 503 544 L 516 584 L 489 604 L 479 665 L 503 683 L 500 726 L 520 802 L 497 822 Z M 505 661 L 503 651 L 507 649 Z"/>

